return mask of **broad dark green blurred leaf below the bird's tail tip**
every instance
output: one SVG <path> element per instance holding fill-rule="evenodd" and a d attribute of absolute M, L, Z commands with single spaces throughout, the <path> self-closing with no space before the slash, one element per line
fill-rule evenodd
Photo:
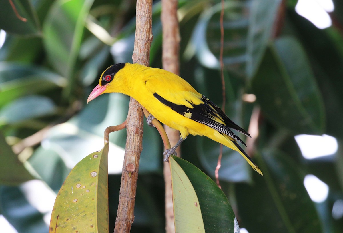
<path fill-rule="evenodd" d="M 297 165 L 279 151 L 263 151 L 262 158 L 254 158 L 264 176 L 253 173 L 253 185 L 236 185 L 242 226 L 256 233 L 322 232 L 316 208 L 304 187 L 304 174 Z"/>

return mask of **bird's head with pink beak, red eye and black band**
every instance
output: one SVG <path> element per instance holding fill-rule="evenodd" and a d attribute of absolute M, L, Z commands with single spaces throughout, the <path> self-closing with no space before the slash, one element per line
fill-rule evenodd
<path fill-rule="evenodd" d="M 116 83 L 116 81 L 113 82 L 113 80 L 116 79 L 118 71 L 124 68 L 125 65 L 126 63 L 118 63 L 107 68 L 100 76 L 99 84 L 94 87 L 91 94 L 88 96 L 87 103 L 101 94 L 116 92 L 116 90 L 114 90 L 115 88 L 113 88 L 114 85 L 111 84 Z"/>

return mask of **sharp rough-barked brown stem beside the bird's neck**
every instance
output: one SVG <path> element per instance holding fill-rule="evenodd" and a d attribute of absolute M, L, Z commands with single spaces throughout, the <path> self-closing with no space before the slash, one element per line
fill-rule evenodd
<path fill-rule="evenodd" d="M 138 0 L 136 6 L 136 35 L 132 55 L 134 63 L 149 65 L 152 38 L 152 0 Z M 126 147 L 115 233 L 128 233 L 131 230 L 134 219 L 142 138 L 143 111 L 139 103 L 131 98 L 127 118 Z"/>

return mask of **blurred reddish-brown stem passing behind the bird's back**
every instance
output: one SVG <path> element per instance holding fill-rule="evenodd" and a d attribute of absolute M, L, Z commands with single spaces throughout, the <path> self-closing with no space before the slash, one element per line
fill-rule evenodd
<path fill-rule="evenodd" d="M 163 69 L 179 75 L 180 33 L 176 13 L 177 0 L 162 0 L 161 21 L 163 30 Z M 166 125 L 164 128 L 170 140 L 170 144 L 174 146 L 179 140 L 179 132 L 172 130 Z M 176 152 L 180 155 L 180 147 L 177 148 Z M 166 232 L 175 233 L 173 196 L 171 190 L 170 167 L 168 163 L 164 163 L 163 173 L 165 182 Z"/>

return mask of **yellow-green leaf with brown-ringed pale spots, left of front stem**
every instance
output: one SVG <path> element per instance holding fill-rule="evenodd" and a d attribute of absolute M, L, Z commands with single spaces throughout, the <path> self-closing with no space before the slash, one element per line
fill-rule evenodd
<path fill-rule="evenodd" d="M 82 159 L 55 200 L 49 232 L 108 233 L 108 144 Z"/>

